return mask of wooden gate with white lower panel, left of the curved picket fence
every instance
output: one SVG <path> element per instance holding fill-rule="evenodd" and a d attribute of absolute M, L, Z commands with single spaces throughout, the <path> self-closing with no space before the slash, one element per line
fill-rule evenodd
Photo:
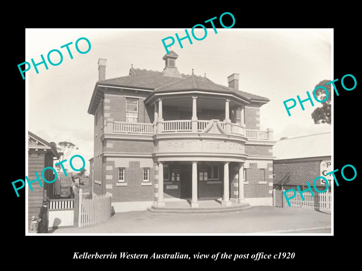
<path fill-rule="evenodd" d="M 75 198 L 49 201 L 49 229 L 78 227 L 79 194 L 76 194 Z"/>

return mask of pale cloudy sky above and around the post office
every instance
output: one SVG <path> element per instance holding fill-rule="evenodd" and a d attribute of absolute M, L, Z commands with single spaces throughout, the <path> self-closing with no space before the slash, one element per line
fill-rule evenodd
<path fill-rule="evenodd" d="M 190 29 L 188 29 L 190 32 Z M 330 31 L 241 31 L 238 29 L 207 29 L 203 40 L 192 38 L 176 43 L 172 50 L 178 54 L 176 66 L 180 73 L 206 77 L 227 86 L 227 77 L 239 73 L 239 90 L 264 96 L 270 102 L 260 109 L 261 130 L 272 128 L 274 140 L 281 137 L 305 136 L 330 132 L 331 125 L 314 124 L 311 113 L 321 106 L 314 101 L 299 104 L 288 116 L 283 101 L 300 95 L 306 99 L 306 91 L 312 91 L 324 79 L 331 76 Z M 89 159 L 93 156 L 94 117 L 87 113 L 94 85 L 98 80 L 98 59 L 107 59 L 106 79 L 127 76 L 131 64 L 134 68 L 158 70 L 164 68 L 162 57 L 166 51 L 161 39 L 185 36 L 182 29 L 163 31 L 130 30 L 27 30 L 26 59 L 41 62 L 52 49 L 63 53 L 63 62 L 48 70 L 39 65 L 26 72 L 28 81 L 28 130 L 48 142 L 70 141 L 79 150 L 72 155 L 84 157 L 89 171 Z M 202 37 L 203 31 L 195 31 Z M 75 42 L 85 37 L 91 43 L 88 53 L 76 51 Z M 175 38 L 176 39 L 176 38 Z M 70 59 L 64 44 L 73 42 Z M 87 43 L 79 42 L 81 51 Z M 57 58 L 58 57 L 58 58 Z M 54 63 L 59 62 L 57 53 L 51 54 Z M 21 78 L 21 75 L 19 73 Z M 68 159 L 69 161 L 69 159 Z M 81 160 L 74 159 L 76 168 Z M 66 162 L 67 163 L 67 162 Z M 69 164 L 65 167 L 70 169 Z"/>

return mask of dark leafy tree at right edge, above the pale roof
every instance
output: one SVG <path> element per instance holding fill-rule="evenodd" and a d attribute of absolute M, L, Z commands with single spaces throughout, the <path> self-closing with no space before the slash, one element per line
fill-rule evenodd
<path fill-rule="evenodd" d="M 315 124 L 328 123 L 331 125 L 332 117 L 331 117 L 331 102 L 332 102 L 332 94 L 331 94 L 331 84 L 327 85 L 331 80 L 323 80 L 320 81 L 315 87 L 324 86 L 328 90 L 328 99 L 322 103 L 321 107 L 317 107 L 314 109 L 312 113 L 312 119 Z M 324 100 L 327 97 L 324 89 L 316 90 L 316 97 L 318 100 Z"/>

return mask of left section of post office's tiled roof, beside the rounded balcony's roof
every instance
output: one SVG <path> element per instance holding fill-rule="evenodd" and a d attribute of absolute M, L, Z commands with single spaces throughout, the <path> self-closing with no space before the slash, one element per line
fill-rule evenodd
<path fill-rule="evenodd" d="M 148 89 L 156 89 L 167 85 L 172 82 L 180 80 L 180 78 L 164 76 L 163 72 L 157 72 L 153 70 L 146 69 L 131 69 L 132 75 L 122 76 L 117 78 L 111 78 L 106 80 L 98 81 L 99 83 L 109 83 L 122 86 L 130 87 L 144 87 Z M 182 75 L 186 77 L 186 75 Z"/>

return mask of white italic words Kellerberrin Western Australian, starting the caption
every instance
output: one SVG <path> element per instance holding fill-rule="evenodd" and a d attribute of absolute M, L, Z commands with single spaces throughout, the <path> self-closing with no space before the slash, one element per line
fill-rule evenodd
<path fill-rule="evenodd" d="M 120 259 L 190 259 L 189 254 L 180 254 L 178 252 L 174 254 L 156 254 L 153 253 L 151 257 L 148 254 L 129 254 L 127 252 L 119 253 Z M 117 259 L 117 254 L 111 252 L 111 254 L 88 254 L 88 252 L 75 252 L 73 259 Z"/>

